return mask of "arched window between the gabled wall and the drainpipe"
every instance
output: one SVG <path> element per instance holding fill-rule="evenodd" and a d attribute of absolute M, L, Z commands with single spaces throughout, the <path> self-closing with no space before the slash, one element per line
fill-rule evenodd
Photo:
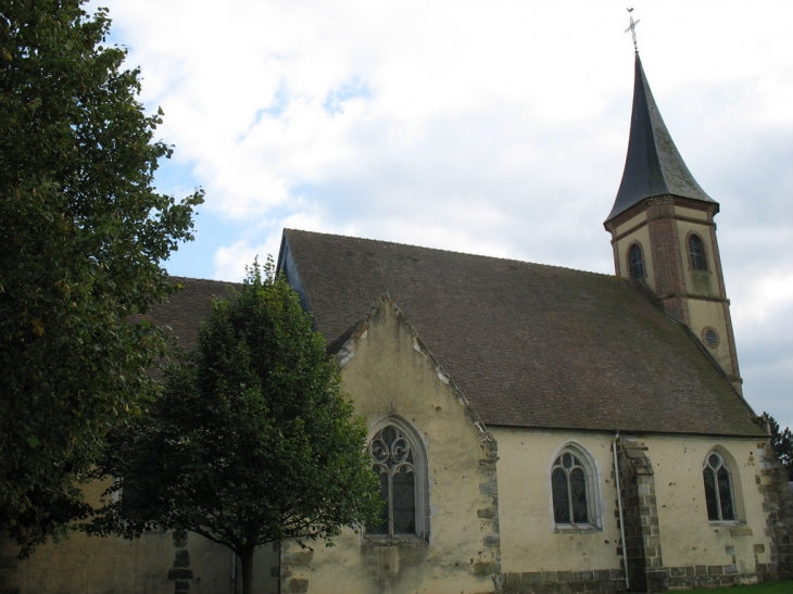
<path fill-rule="evenodd" d="M 575 444 L 563 447 L 551 467 L 553 521 L 558 530 L 600 528 L 597 476 L 591 456 Z"/>

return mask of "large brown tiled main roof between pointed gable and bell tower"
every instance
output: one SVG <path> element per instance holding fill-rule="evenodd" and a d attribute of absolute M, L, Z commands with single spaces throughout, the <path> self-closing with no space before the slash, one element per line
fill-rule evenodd
<path fill-rule="evenodd" d="M 389 293 L 486 424 L 763 434 L 634 281 L 297 230 L 279 268 L 328 343 Z"/>

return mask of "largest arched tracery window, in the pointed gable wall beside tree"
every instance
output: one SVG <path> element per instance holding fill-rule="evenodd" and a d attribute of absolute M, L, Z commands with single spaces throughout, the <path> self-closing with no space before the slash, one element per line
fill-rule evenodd
<path fill-rule="evenodd" d="M 385 502 L 380 521 L 366 534 L 383 538 L 419 536 L 429 532 L 427 458 L 418 433 L 392 417 L 369 440 L 372 469 L 380 478 Z"/>

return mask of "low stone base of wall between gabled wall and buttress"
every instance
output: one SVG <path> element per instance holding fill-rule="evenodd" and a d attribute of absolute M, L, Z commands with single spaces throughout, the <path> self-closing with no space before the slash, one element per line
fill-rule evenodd
<path fill-rule="evenodd" d="M 532 571 L 503 573 L 503 594 L 574 594 L 578 592 L 624 592 L 621 569 L 593 571 Z"/>

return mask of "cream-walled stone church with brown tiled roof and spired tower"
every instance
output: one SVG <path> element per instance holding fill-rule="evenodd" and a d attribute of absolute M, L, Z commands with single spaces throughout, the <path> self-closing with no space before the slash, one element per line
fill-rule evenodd
<path fill-rule="evenodd" d="M 285 230 L 278 268 L 368 422 L 387 505 L 380 525 L 333 547 L 266 547 L 259 591 L 666 592 L 793 578 L 793 504 L 743 397 L 718 211 L 637 54 L 605 220 L 614 276 Z M 154 317 L 189 346 L 224 283 L 178 280 Z M 194 594 L 232 592 L 234 571 L 226 549 L 164 532 L 77 535 L 4 578 L 21 594 Z"/>

